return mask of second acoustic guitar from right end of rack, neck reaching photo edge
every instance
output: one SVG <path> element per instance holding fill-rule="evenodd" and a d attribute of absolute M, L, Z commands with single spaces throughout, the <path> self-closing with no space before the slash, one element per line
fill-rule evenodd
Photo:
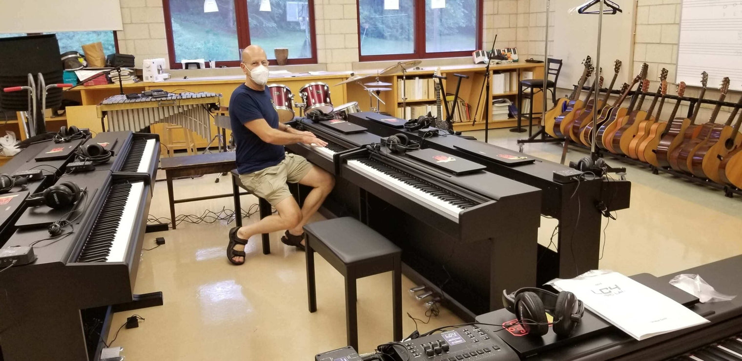
<path fill-rule="evenodd" d="M 732 111 L 732 114 L 729 114 L 729 119 L 726 120 L 726 123 L 714 126 L 711 130 L 711 134 L 709 134 L 709 140 L 706 140 L 706 144 L 701 146 L 695 152 L 691 160 L 691 172 L 693 172 L 693 175 L 696 177 L 709 178 L 716 183 L 721 183 L 721 178 L 719 178 L 719 166 L 723 157 L 726 157 L 726 155 L 729 154 L 729 150 L 731 150 L 727 149 L 727 146 L 731 145 L 732 149 L 739 146 L 739 143 L 735 143 L 736 137 L 735 140 L 732 140 L 731 144 L 727 144 L 726 142 L 727 140 L 732 139 L 735 131 L 739 131 L 737 124 L 732 127 L 732 122 L 734 122 L 741 107 L 742 97 L 740 97 L 737 105 L 735 105 L 735 110 Z M 742 141 L 742 139 L 740 139 L 740 141 Z"/>

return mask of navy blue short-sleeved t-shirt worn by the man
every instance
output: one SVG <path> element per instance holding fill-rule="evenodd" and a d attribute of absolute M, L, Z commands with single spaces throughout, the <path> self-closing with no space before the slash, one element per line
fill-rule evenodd
<path fill-rule="evenodd" d="M 268 87 L 256 91 L 241 84 L 229 100 L 229 121 L 237 145 L 237 172 L 241 175 L 275 166 L 286 157 L 283 146 L 263 142 L 247 129 L 245 123 L 256 119 L 265 119 L 271 128 L 278 129 L 278 113 L 273 108 Z"/>

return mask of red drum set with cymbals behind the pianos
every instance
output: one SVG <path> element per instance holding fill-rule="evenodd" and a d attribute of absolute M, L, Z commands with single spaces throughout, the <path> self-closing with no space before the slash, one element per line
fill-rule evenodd
<path fill-rule="evenodd" d="M 410 60 L 407 62 L 398 62 L 376 74 L 375 82 L 361 83 L 361 79 L 372 76 L 372 74 L 366 75 L 353 75 L 342 82 L 338 82 L 336 85 L 342 85 L 349 82 L 355 82 L 361 85 L 369 93 L 369 108 L 371 111 L 381 112 L 379 103 L 384 103 L 379 97 L 382 91 L 391 91 L 390 86 L 392 84 L 388 82 L 379 81 L 378 77 L 384 75 L 391 75 L 401 71 L 402 78 L 405 79 L 407 71 L 420 64 L 420 60 Z M 361 111 L 361 107 L 358 106 L 358 102 L 350 102 L 334 107 L 332 105 L 332 99 L 330 97 L 329 85 L 324 82 L 310 82 L 299 89 L 299 97 L 301 97 L 301 103 L 298 103 L 294 99 L 291 89 L 286 85 L 282 84 L 270 84 L 268 85 L 273 107 L 278 112 L 278 120 L 281 123 L 288 122 L 294 119 L 295 111 L 294 108 L 299 108 L 299 116 L 306 114 L 308 111 L 319 110 L 325 114 L 332 114 L 335 119 L 347 120 L 348 114 L 358 113 Z M 407 101 L 407 89 L 404 88 L 404 82 L 402 85 L 402 103 Z M 376 99 L 376 106 L 373 106 L 373 100 Z"/>

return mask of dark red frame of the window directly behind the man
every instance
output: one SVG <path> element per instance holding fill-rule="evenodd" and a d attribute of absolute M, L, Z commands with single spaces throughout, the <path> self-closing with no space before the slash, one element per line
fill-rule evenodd
<path fill-rule="evenodd" d="M 479 0 L 482 1 L 482 0 Z M 307 0 L 309 6 L 309 39 L 312 42 L 312 57 L 302 59 L 288 59 L 286 65 L 317 64 L 317 28 L 315 27 L 315 0 Z M 175 61 L 175 42 L 173 39 L 173 24 L 170 13 L 170 0 L 162 0 L 162 12 L 165 15 L 165 39 L 168 42 L 168 61 L 171 69 L 183 69 L 183 64 Z M 237 17 L 237 46 L 240 49 L 247 48 L 250 42 L 250 21 L 247 13 L 246 0 L 234 0 L 234 16 Z M 267 51 L 266 51 L 267 52 Z M 275 59 L 269 59 L 270 65 L 278 65 Z M 216 67 L 227 66 L 229 68 L 240 66 L 239 60 L 227 60 L 216 62 Z M 209 62 L 204 65 L 209 68 Z"/>

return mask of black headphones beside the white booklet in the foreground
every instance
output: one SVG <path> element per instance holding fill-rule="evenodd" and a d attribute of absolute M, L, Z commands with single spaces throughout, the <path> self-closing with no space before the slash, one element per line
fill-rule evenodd
<path fill-rule="evenodd" d="M 553 293 L 536 287 L 523 287 L 513 293 L 502 290 L 502 305 L 515 314 L 529 335 L 544 336 L 552 325 L 557 336 L 569 336 L 582 320 L 585 306 L 571 292 Z M 546 311 L 553 312 L 548 322 Z"/>

